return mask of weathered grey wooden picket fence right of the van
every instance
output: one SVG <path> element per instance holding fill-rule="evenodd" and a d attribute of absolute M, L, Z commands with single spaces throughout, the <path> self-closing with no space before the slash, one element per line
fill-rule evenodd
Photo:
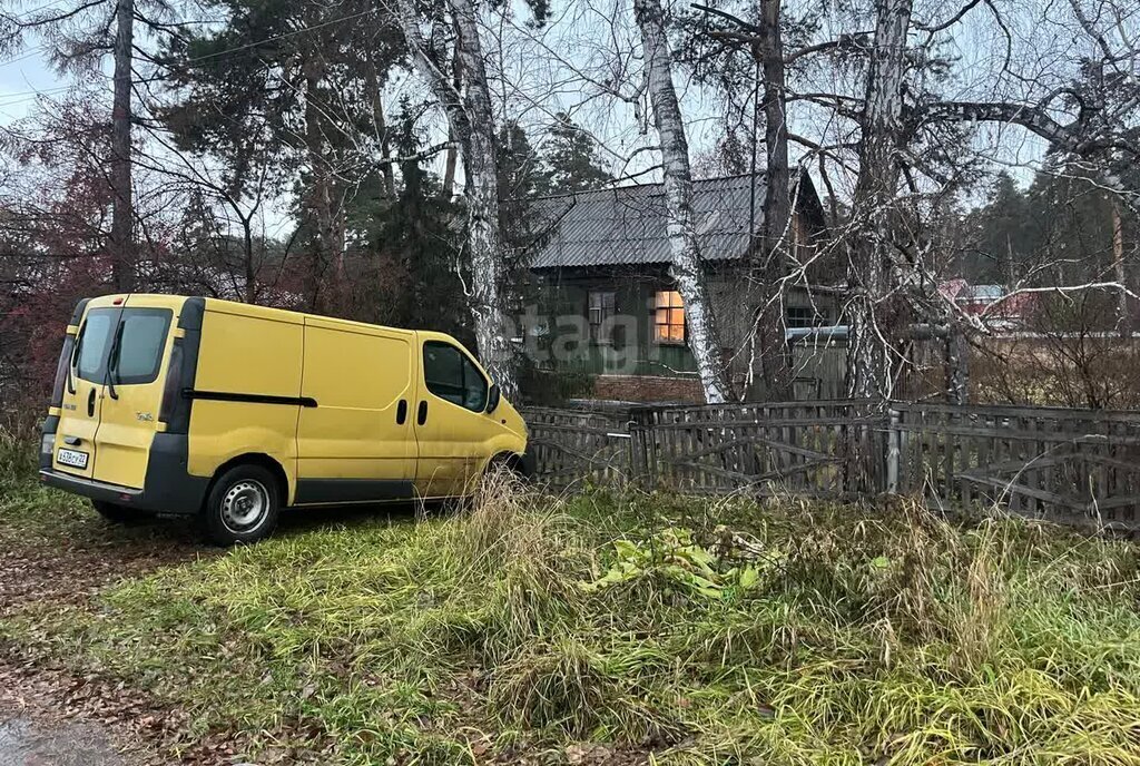
<path fill-rule="evenodd" d="M 921 494 L 1140 529 L 1140 413 L 797 401 L 524 415 L 554 489 Z"/>

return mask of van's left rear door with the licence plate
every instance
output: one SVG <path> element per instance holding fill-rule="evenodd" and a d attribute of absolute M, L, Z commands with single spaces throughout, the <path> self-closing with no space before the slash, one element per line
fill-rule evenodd
<path fill-rule="evenodd" d="M 59 425 L 51 467 L 88 479 L 95 475 L 96 433 L 103 408 L 111 340 L 120 309 L 111 299 L 91 301 L 79 323 L 75 344 L 67 360 Z"/>

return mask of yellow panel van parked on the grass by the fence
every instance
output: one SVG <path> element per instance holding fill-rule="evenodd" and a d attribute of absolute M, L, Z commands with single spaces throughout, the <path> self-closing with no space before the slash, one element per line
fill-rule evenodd
<path fill-rule="evenodd" d="M 40 478 L 112 521 L 199 515 L 231 544 L 284 506 L 470 495 L 492 462 L 529 473 L 526 448 L 442 333 L 132 293 L 75 307 Z"/>

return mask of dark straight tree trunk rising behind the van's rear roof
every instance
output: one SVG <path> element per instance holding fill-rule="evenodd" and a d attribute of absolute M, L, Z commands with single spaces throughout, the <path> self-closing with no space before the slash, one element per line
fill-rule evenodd
<path fill-rule="evenodd" d="M 111 274 L 115 290 L 135 288 L 135 210 L 131 189 L 131 85 L 135 0 L 115 8 L 114 103 L 111 109 Z"/>

